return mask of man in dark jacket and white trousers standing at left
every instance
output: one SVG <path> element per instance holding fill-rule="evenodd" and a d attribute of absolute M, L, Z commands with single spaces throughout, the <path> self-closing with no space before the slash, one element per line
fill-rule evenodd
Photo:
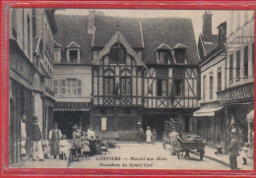
<path fill-rule="evenodd" d="M 39 161 L 43 160 L 43 153 L 41 148 L 41 132 L 37 124 L 37 117 L 32 117 L 32 160 L 35 161 L 36 150 Z"/>

